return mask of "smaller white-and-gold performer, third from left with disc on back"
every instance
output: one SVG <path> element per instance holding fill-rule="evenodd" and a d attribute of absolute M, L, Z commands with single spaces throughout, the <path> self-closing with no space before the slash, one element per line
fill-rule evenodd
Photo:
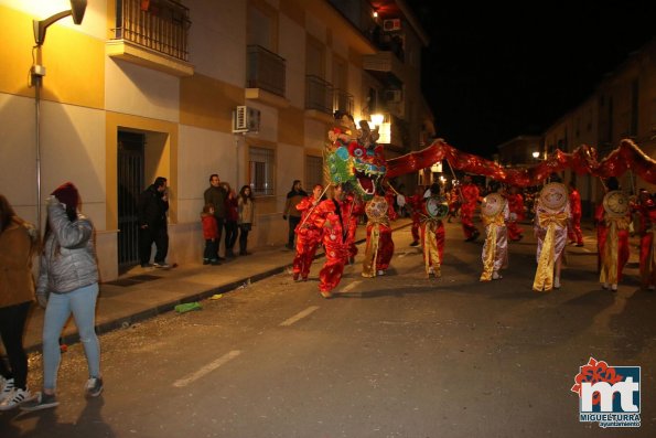
<path fill-rule="evenodd" d="M 509 217 L 508 203 L 498 193 L 491 193 L 481 205 L 481 218 L 485 225 L 485 243 L 483 244 L 483 274 L 481 281 L 498 280 L 499 269 L 508 266 L 508 231 L 506 222 Z"/>

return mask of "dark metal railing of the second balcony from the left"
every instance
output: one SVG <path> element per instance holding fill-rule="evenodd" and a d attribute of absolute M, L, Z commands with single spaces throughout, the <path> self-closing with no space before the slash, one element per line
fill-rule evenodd
<path fill-rule="evenodd" d="M 247 49 L 247 88 L 261 88 L 284 97 L 286 61 L 259 45 Z"/>

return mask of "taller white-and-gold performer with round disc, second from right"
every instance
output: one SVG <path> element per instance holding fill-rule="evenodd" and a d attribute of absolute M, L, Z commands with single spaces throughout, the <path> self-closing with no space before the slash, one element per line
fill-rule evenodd
<path fill-rule="evenodd" d="M 535 291 L 560 288 L 560 267 L 570 217 L 567 188 L 560 182 L 546 184 L 536 201 L 534 232 L 538 239 L 538 267 L 533 282 Z"/>

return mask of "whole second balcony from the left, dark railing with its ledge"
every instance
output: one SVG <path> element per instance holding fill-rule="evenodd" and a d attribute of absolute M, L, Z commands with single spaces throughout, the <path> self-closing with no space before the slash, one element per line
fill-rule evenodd
<path fill-rule="evenodd" d="M 286 61 L 259 45 L 246 52 L 246 98 L 278 108 L 289 107 L 286 92 Z"/>

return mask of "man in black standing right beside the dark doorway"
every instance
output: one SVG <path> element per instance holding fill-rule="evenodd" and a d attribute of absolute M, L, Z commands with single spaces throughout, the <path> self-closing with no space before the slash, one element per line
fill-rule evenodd
<path fill-rule="evenodd" d="M 142 268 L 150 266 L 153 242 L 157 248 L 154 267 L 170 267 L 166 264 L 166 254 L 169 253 L 168 210 L 166 179 L 158 177 L 139 196 L 139 259 Z"/>

